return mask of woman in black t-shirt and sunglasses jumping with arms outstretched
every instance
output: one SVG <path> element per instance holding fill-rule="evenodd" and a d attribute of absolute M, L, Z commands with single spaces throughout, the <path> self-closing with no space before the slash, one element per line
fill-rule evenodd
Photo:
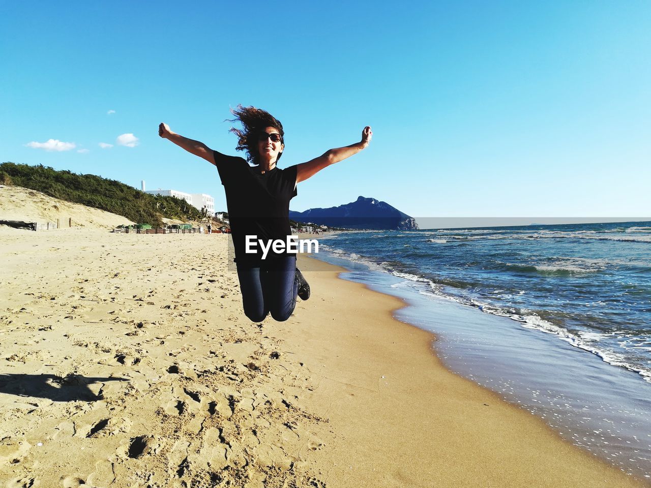
<path fill-rule="evenodd" d="M 235 116 L 232 122 L 242 124 L 242 129 L 230 131 L 238 136 L 236 150 L 245 151 L 246 159 L 212 150 L 203 142 L 174 133 L 164 123 L 159 125 L 158 135 L 217 167 L 226 193 L 244 313 L 254 322 L 263 321 L 268 314 L 284 321 L 294 312 L 297 295 L 302 300 L 310 297 L 310 286 L 290 249 L 277 251 L 274 247 L 263 256 L 260 247 L 250 252 L 247 236 L 262 239 L 260 242 L 287 241 L 291 236 L 289 202 L 297 195 L 298 183 L 367 148 L 373 133 L 367 126 L 361 141 L 281 169 L 277 163 L 284 151 L 283 124 L 256 107 L 238 105 L 231 112 Z"/>

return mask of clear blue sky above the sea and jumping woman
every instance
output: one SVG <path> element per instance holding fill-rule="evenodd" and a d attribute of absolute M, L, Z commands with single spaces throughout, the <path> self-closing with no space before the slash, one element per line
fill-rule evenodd
<path fill-rule="evenodd" d="M 157 128 L 238 154 L 242 103 L 283 122 L 281 167 L 373 128 L 292 210 L 363 195 L 414 217 L 644 217 L 649 25 L 648 1 L 4 1 L 0 161 L 223 209 L 216 169 Z"/>

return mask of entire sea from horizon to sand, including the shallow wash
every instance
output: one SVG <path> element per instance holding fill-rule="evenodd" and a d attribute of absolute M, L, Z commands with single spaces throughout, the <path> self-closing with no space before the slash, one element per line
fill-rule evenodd
<path fill-rule="evenodd" d="M 651 472 L 651 222 L 345 232 L 320 258 L 402 297 L 457 372 Z"/>

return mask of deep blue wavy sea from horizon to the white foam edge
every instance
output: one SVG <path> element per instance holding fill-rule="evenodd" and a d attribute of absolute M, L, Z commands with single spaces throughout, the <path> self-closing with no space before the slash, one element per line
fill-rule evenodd
<path fill-rule="evenodd" d="M 651 222 L 350 232 L 321 244 L 651 383 Z"/>

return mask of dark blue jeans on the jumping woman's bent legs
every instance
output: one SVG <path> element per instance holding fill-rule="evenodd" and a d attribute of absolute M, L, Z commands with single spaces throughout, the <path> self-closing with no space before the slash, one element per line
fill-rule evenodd
<path fill-rule="evenodd" d="M 285 321 L 294 312 L 298 278 L 296 256 L 260 261 L 259 267 L 238 265 L 244 313 L 254 322 L 262 322 L 268 313 Z"/>

